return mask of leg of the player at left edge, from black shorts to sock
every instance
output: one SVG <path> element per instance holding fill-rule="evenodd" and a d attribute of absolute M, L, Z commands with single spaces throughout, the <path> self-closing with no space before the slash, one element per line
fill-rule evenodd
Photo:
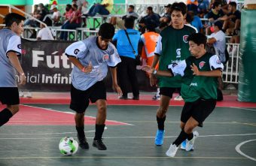
<path fill-rule="evenodd" d="M 19 90 L 17 87 L 0 88 L 0 101 L 2 104 L 7 105 L 7 107 L 0 112 L 0 126 L 2 126 L 20 110 Z"/>

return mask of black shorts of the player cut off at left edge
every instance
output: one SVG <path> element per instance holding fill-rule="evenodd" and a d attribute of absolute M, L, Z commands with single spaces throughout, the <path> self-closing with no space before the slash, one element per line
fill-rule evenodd
<path fill-rule="evenodd" d="M 17 87 L 1 87 L 0 101 L 2 104 L 17 105 L 20 104 L 19 90 Z"/>

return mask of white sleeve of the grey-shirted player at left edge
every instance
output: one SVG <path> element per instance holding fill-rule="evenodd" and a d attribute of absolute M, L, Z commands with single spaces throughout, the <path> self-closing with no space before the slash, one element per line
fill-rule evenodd
<path fill-rule="evenodd" d="M 9 52 L 14 52 L 17 56 L 21 55 L 21 39 L 20 36 L 14 35 L 9 39 L 6 55 Z"/>

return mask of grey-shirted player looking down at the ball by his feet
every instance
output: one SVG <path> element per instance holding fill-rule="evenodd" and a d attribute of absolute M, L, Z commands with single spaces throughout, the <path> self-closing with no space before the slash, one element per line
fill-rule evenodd
<path fill-rule="evenodd" d="M 84 41 L 78 41 L 66 48 L 66 56 L 75 65 L 72 69 L 72 87 L 70 108 L 75 110 L 75 125 L 78 131 L 79 146 L 89 149 L 84 134 L 84 113 L 89 102 L 96 103 L 96 131 L 93 146 L 99 150 L 107 147 L 102 142 L 102 134 L 106 119 L 106 88 L 103 79 L 110 67 L 112 87 L 122 95 L 120 86 L 117 85 L 116 65 L 120 57 L 113 44 L 110 43 L 114 36 L 114 26 L 103 23 L 99 27 L 97 36 L 92 36 Z"/>

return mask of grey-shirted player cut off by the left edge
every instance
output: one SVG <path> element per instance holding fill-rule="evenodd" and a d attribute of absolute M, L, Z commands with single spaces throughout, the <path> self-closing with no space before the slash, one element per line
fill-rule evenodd
<path fill-rule="evenodd" d="M 21 55 L 20 35 L 23 33 L 25 17 L 20 14 L 5 16 L 6 28 L 0 30 L 0 101 L 6 104 L 0 112 L 0 126 L 4 125 L 20 109 L 20 96 L 15 80 L 16 71 L 20 76 L 20 84 L 26 83 L 23 68 L 18 56 Z"/>

